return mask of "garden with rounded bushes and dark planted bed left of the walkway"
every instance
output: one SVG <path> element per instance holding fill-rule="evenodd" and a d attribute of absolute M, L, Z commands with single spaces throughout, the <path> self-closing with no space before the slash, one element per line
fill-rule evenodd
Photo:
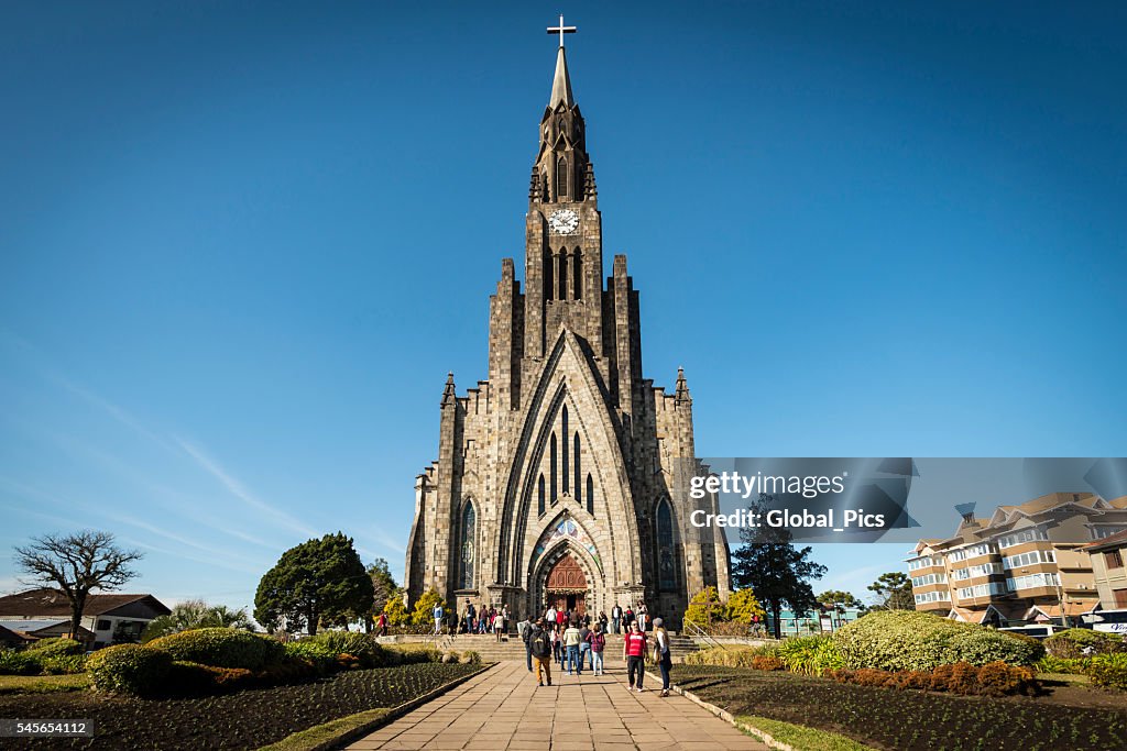
<path fill-rule="evenodd" d="M 108 647 L 85 659 L 85 673 L 26 676 L 36 661 L 44 659 L 34 652 L 0 655 L 0 665 L 18 663 L 25 673 L 0 680 L 0 717 L 92 721 L 94 739 L 55 741 L 82 749 L 258 749 L 330 721 L 371 717 L 481 669 L 473 653 L 385 649 L 364 634 L 283 644 L 228 628 Z M 39 745 L 6 740 L 6 748 Z"/>

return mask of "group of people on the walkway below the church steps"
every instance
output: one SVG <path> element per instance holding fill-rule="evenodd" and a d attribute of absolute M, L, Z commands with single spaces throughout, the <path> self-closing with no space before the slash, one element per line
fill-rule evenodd
<path fill-rule="evenodd" d="M 615 606 L 612 609 L 621 611 Z M 625 629 L 622 638 L 622 660 L 627 663 L 627 678 L 631 691 L 642 691 L 642 681 L 646 677 L 646 658 L 653 649 L 653 661 L 662 671 L 662 696 L 669 695 L 669 668 L 672 667 L 672 653 L 669 650 L 669 634 L 663 625 L 660 618 L 653 622 L 653 647 L 650 647 L 647 627 L 649 626 L 648 615 L 646 618 L 638 617 L 638 613 L 628 608 L 630 619 L 624 618 L 625 614 L 620 614 L 618 623 L 612 615 L 611 623 L 614 624 L 614 633 L 618 632 L 619 624 Z M 639 613 L 645 614 L 645 606 L 639 606 Z M 567 671 L 568 676 L 583 674 L 584 665 L 588 665 L 595 676 L 605 674 L 605 662 L 603 653 L 606 650 L 606 624 L 604 614 L 592 623 L 589 615 L 579 615 L 568 610 L 557 610 L 549 607 L 544 615 L 535 622 L 522 620 L 517 624 L 517 632 L 525 645 L 525 658 L 529 672 L 534 672 L 536 686 L 552 685 L 552 662 L 559 662 L 560 671 Z M 645 626 L 644 626 L 645 624 Z"/>

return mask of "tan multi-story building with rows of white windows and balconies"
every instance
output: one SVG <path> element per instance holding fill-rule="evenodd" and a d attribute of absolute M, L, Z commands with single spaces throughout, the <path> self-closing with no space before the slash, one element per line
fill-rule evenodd
<path fill-rule="evenodd" d="M 1000 506 L 955 535 L 922 539 L 908 558 L 917 610 L 1011 626 L 1075 623 L 1100 607 L 1085 545 L 1127 530 L 1127 497 L 1050 493 Z"/>

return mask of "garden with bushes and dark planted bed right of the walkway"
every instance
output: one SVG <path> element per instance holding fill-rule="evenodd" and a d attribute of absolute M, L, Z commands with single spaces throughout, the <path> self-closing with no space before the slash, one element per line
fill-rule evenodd
<path fill-rule="evenodd" d="M 876 613 L 832 636 L 691 654 L 673 677 L 733 715 L 878 749 L 1127 748 L 1127 645 L 1092 634 L 1041 644 L 926 614 Z"/>

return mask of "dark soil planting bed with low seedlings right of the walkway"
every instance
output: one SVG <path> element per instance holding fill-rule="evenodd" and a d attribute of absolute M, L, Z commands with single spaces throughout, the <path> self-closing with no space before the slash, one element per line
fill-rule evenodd
<path fill-rule="evenodd" d="M 673 680 L 734 715 L 841 733 L 877 749 L 1127 748 L 1127 695 L 1076 686 L 1050 687 L 1042 697 L 992 699 L 711 665 L 675 665 Z"/>

